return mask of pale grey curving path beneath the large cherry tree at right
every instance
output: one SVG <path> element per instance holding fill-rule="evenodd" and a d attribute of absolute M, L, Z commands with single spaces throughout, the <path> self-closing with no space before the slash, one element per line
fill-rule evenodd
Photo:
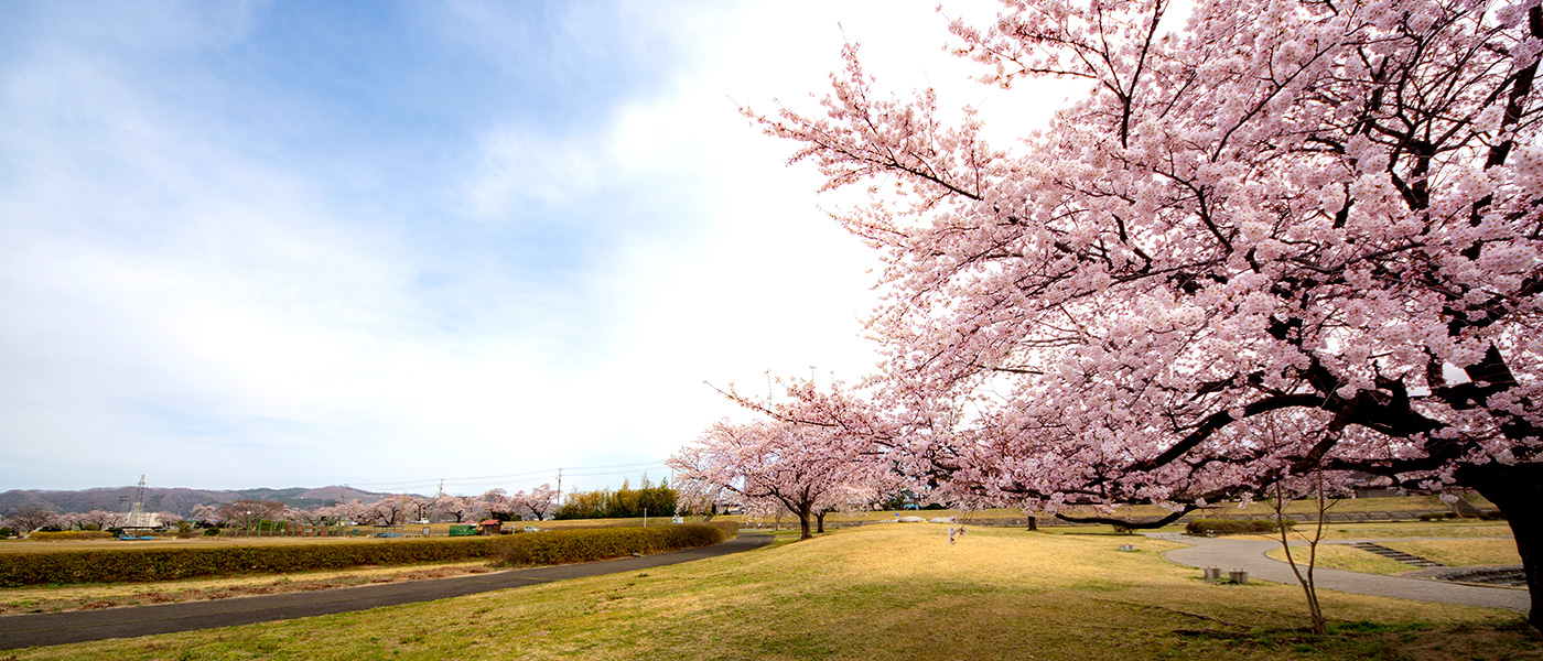
<path fill-rule="evenodd" d="M 1162 556 L 1188 567 L 1217 567 L 1222 572 L 1245 570 L 1248 578 L 1296 586 L 1296 575 L 1285 562 L 1265 558 L 1281 542 L 1262 539 L 1193 538 L 1182 533 L 1146 533 L 1154 539 L 1190 544 Z M 1359 539 L 1353 539 L 1359 541 Z M 1350 542 L 1350 541 L 1345 541 Z M 1329 542 L 1325 542 L 1329 544 Z M 1401 599 L 1435 601 L 1441 604 L 1483 606 L 1526 612 L 1532 602 L 1526 589 L 1480 587 L 1449 581 L 1421 578 L 1381 576 L 1375 573 L 1344 572 L 1318 567 L 1313 570 L 1318 587 L 1353 592 L 1356 595 L 1395 596 Z"/>

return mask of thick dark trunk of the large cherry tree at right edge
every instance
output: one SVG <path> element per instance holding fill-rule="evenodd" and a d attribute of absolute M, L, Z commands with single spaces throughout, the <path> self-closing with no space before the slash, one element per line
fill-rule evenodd
<path fill-rule="evenodd" d="M 1543 630 L 1543 464 L 1464 465 L 1455 473 L 1458 484 L 1474 487 L 1500 507 L 1517 538 L 1521 572 L 1528 578 L 1532 612 L 1528 622 Z"/>

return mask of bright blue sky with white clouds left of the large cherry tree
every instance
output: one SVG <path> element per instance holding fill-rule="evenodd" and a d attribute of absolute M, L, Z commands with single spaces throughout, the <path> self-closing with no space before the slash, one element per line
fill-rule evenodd
<path fill-rule="evenodd" d="M 944 22 L 0 5 L 0 488 L 659 478 L 739 414 L 704 382 L 876 359 L 875 256 L 738 105 L 812 108 L 842 39 L 952 80 Z"/>

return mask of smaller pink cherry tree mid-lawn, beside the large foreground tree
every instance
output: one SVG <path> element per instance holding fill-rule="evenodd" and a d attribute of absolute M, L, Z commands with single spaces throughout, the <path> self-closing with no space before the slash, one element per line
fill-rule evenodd
<path fill-rule="evenodd" d="M 876 496 L 883 468 L 849 451 L 844 435 L 787 421 L 733 424 L 719 421 L 665 464 L 685 490 L 733 493 L 747 508 L 776 502 L 798 516 L 801 539 L 818 519 L 847 507 L 853 493 Z M 844 450 L 846 447 L 846 450 Z"/>

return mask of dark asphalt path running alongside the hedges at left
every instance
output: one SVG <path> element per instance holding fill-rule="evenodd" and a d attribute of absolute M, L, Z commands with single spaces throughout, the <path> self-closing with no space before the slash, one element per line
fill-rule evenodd
<path fill-rule="evenodd" d="M 316 592 L 242 596 L 218 601 L 187 601 L 181 604 L 134 606 L 123 609 L 77 610 L 69 613 L 0 616 L 0 650 L 65 643 L 99 641 L 105 638 L 147 636 L 151 633 L 191 632 L 231 627 L 312 615 L 347 613 L 381 606 L 444 599 L 508 587 L 534 586 L 568 578 L 636 572 L 667 564 L 688 562 L 759 549 L 772 542 L 772 535 L 741 533 L 738 538 L 702 549 L 622 558 L 602 562 L 534 567 L 497 573 L 481 573 L 430 581 L 387 582 L 363 587 L 341 587 Z"/>

